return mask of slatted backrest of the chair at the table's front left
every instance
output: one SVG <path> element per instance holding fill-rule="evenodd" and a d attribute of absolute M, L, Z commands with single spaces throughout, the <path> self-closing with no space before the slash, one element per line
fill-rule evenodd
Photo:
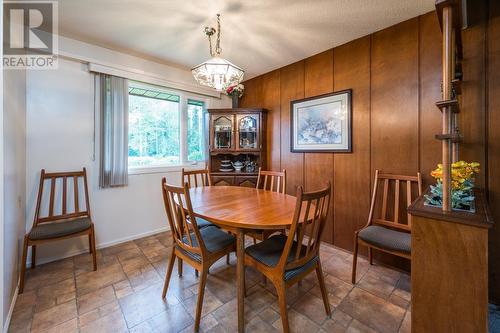
<path fill-rule="evenodd" d="M 188 184 L 184 183 L 182 187 L 168 185 L 166 178 L 163 177 L 161 188 L 175 244 L 185 251 L 204 256 L 207 250 L 193 215 Z"/>

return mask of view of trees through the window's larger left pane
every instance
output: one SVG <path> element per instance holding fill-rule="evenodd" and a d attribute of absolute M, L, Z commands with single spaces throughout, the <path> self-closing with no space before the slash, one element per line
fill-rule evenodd
<path fill-rule="evenodd" d="M 179 102 L 129 95 L 129 166 L 180 163 Z"/>

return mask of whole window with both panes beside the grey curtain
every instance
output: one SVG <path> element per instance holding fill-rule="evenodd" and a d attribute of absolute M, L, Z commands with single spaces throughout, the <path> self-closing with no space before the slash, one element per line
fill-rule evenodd
<path fill-rule="evenodd" d="M 129 168 L 204 160 L 203 98 L 129 82 Z"/>

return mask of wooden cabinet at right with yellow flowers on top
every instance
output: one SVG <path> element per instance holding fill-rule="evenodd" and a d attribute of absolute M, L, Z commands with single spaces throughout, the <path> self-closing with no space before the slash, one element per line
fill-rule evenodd
<path fill-rule="evenodd" d="M 476 193 L 476 212 L 446 212 L 419 197 L 412 215 L 411 330 L 488 332 L 488 229 L 493 221 Z"/>

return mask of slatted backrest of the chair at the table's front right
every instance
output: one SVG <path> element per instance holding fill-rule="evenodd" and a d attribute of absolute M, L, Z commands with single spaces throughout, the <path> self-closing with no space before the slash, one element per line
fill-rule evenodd
<path fill-rule="evenodd" d="M 330 196 L 330 182 L 324 189 L 315 192 L 304 193 L 302 186 L 297 188 L 293 221 L 278 267 L 290 270 L 304 265 L 318 255 L 330 209 Z M 298 244 L 296 248 L 293 247 L 294 241 Z M 291 261 L 287 260 L 289 257 L 292 258 Z"/>

